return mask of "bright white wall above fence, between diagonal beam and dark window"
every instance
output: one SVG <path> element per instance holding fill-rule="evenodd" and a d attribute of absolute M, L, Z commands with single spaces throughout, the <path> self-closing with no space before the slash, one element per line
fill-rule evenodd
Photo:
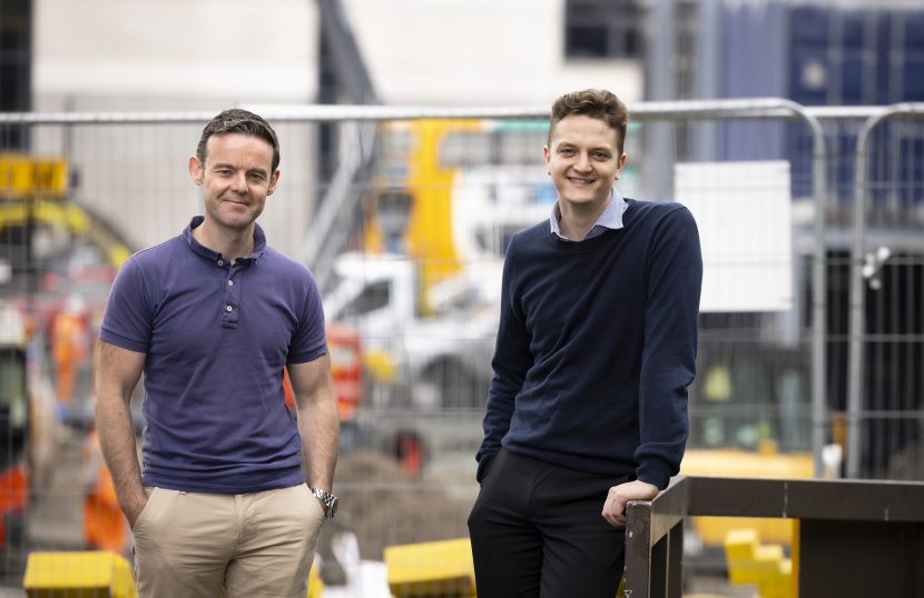
<path fill-rule="evenodd" d="M 343 0 L 385 103 L 545 106 L 604 87 L 642 99 L 630 60 L 566 60 L 564 0 Z"/>

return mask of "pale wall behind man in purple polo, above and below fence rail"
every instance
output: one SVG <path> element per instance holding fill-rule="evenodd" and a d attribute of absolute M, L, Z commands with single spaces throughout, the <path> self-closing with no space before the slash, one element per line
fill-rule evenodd
<path fill-rule="evenodd" d="M 36 0 L 33 108 L 38 111 L 203 110 L 308 102 L 317 82 L 317 11 L 307 0 Z M 176 235 L 201 211 L 186 172 L 199 126 L 39 129 L 32 150 L 73 157 L 73 197 L 135 247 Z M 314 197 L 312 143 L 279 131 L 281 187 L 261 223 L 297 255 Z M 145 151 L 134 149 L 144 146 Z M 114 146 L 118 146 L 116 150 Z M 89 159 L 88 157 L 97 157 Z M 140 161 L 140 163 L 139 163 Z M 144 181 L 144 185 L 138 185 Z M 283 203 L 285 202 L 285 203 Z"/>

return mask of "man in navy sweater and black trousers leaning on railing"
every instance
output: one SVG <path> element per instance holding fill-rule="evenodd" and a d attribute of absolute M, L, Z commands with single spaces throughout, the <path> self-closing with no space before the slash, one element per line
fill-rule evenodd
<path fill-rule="evenodd" d="M 480 598 L 612 598 L 626 504 L 651 499 L 687 440 L 702 279 L 676 202 L 623 199 L 625 104 L 552 106 L 550 220 L 517 233 L 469 517 Z"/>

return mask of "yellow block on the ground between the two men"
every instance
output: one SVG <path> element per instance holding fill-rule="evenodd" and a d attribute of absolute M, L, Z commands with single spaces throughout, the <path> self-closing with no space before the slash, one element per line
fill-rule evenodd
<path fill-rule="evenodd" d="M 468 538 L 389 546 L 384 558 L 389 588 L 395 598 L 476 595 Z"/>

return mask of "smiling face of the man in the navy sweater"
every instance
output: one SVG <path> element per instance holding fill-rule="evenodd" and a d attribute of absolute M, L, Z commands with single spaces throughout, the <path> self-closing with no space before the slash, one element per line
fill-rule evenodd
<path fill-rule="evenodd" d="M 606 206 L 612 183 L 626 166 L 616 130 L 603 120 L 582 114 L 556 123 L 550 146 L 542 152 L 559 201 L 573 207 Z"/>

